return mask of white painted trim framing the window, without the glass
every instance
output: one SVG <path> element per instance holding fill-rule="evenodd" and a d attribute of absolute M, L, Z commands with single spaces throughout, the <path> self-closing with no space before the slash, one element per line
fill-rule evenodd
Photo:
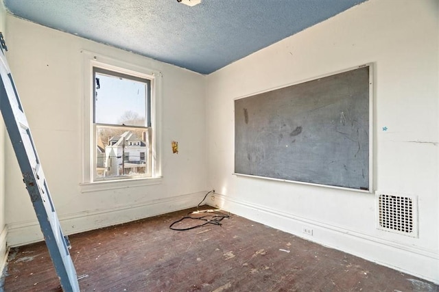
<path fill-rule="evenodd" d="M 156 185 L 161 183 L 161 101 L 162 101 L 162 73 L 158 70 L 143 68 L 123 62 L 120 59 L 106 57 L 91 51 L 82 50 L 82 192 L 102 191 L 106 189 L 120 189 L 142 185 Z M 95 144 L 93 130 L 93 66 L 108 70 L 115 70 L 128 75 L 145 77 L 151 80 L 151 158 L 152 175 L 145 178 L 126 178 L 114 181 L 93 181 L 94 154 L 91 144 Z"/>

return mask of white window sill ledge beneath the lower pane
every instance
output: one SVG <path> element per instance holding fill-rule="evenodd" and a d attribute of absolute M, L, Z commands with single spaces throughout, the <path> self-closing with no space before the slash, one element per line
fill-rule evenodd
<path fill-rule="evenodd" d="M 93 183 L 80 183 L 81 193 L 92 191 L 106 191 L 109 189 L 126 189 L 128 187 L 143 187 L 145 185 L 159 185 L 163 177 L 155 178 L 130 178 L 117 181 L 96 181 Z"/>

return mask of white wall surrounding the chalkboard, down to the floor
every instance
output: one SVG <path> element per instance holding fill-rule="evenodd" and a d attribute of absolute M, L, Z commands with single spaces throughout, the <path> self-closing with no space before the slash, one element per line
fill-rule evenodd
<path fill-rule="evenodd" d="M 215 204 L 439 282 L 438 3 L 367 1 L 209 75 L 209 183 L 222 194 Z M 374 194 L 233 175 L 234 98 L 368 62 L 374 191 L 418 196 L 416 238 L 376 228 Z"/>

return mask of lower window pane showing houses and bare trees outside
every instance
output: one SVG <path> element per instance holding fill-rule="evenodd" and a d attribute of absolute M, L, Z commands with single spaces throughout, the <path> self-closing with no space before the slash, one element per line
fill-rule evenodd
<path fill-rule="evenodd" d="M 150 172 L 148 129 L 96 126 L 96 175 L 117 177 Z"/>

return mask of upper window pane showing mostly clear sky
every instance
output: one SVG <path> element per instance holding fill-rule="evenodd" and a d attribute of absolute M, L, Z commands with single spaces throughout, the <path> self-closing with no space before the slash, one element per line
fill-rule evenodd
<path fill-rule="evenodd" d="M 95 72 L 95 122 L 145 127 L 147 83 Z"/>

